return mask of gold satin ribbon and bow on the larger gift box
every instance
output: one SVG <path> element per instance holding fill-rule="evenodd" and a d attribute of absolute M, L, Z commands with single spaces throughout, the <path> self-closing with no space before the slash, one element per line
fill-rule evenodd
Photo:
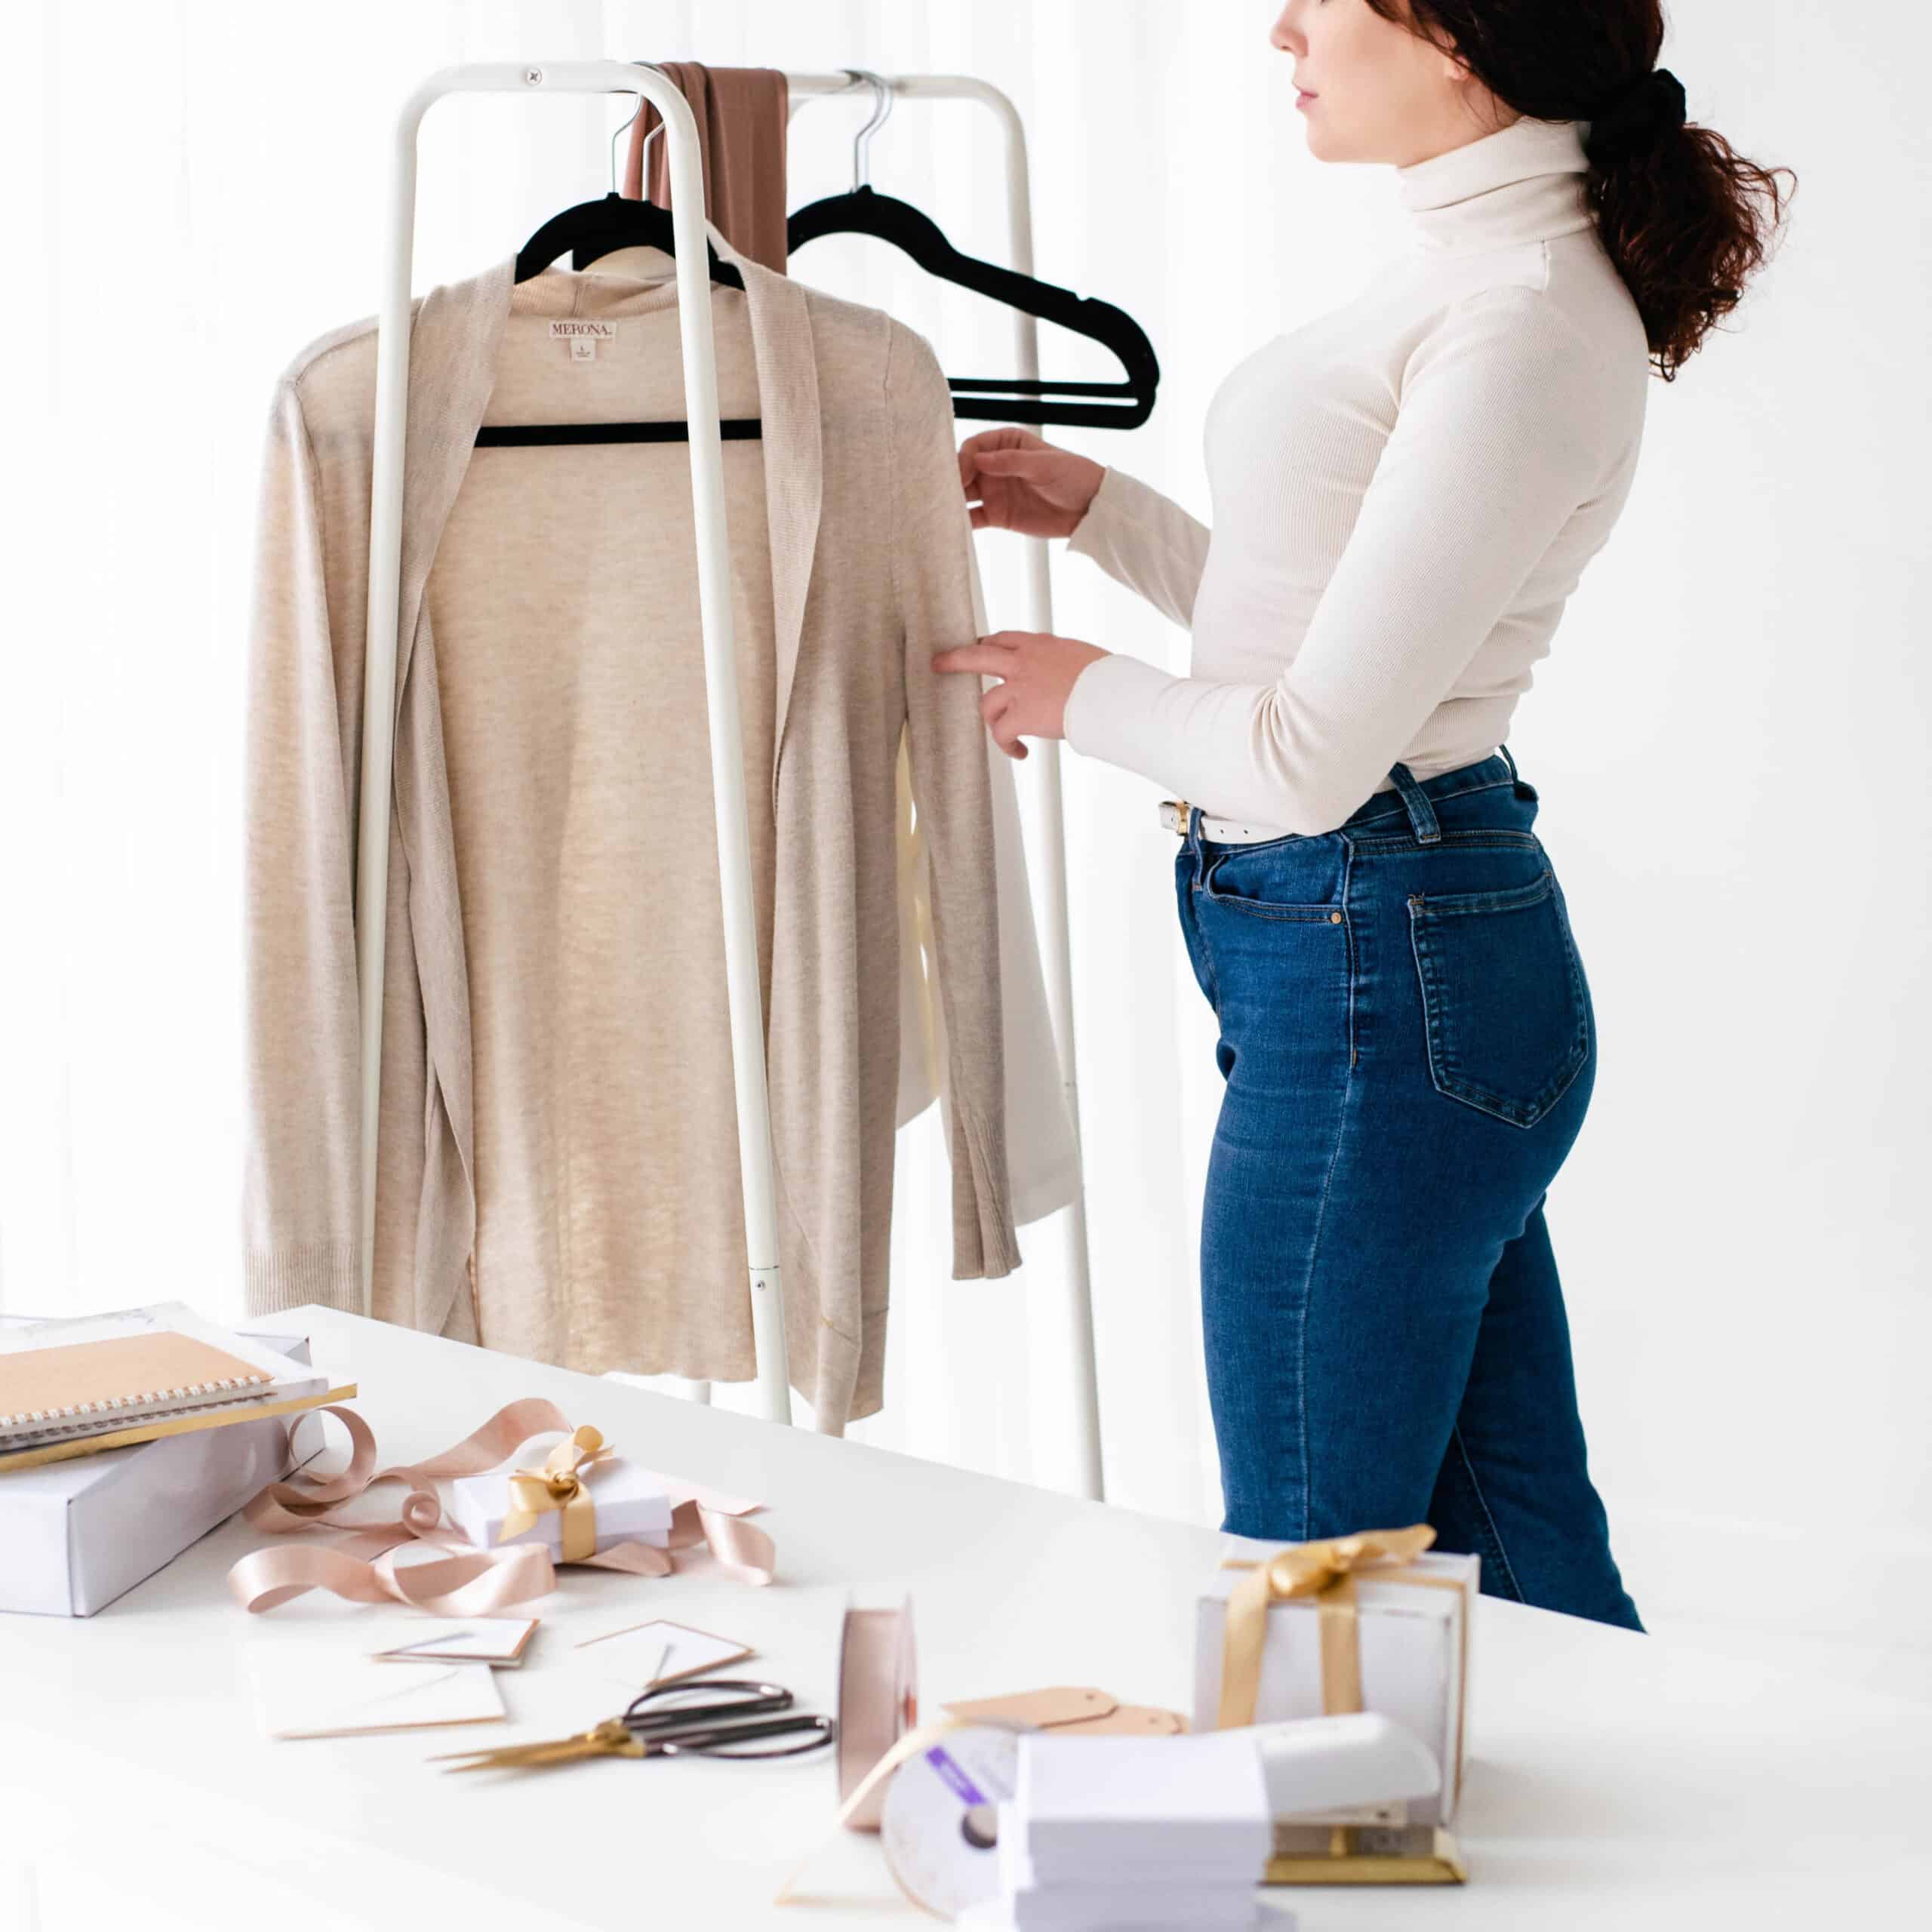
<path fill-rule="evenodd" d="M 1229 1559 L 1223 1569 L 1248 1575 L 1227 1600 L 1227 1629 L 1221 1642 L 1221 1731 L 1254 1723 L 1254 1700 L 1262 1689 L 1262 1648 L 1267 1642 L 1267 1611 L 1291 1598 L 1312 1598 L 1321 1640 L 1321 1710 L 1335 1718 L 1362 1710 L 1362 1633 L 1356 1623 L 1354 1578 L 1370 1573 L 1378 1582 L 1449 1584 L 1406 1565 L 1435 1542 L 1435 1532 L 1418 1522 L 1406 1530 L 1362 1530 L 1331 1536 L 1320 1544 L 1291 1544 L 1265 1563 Z"/>

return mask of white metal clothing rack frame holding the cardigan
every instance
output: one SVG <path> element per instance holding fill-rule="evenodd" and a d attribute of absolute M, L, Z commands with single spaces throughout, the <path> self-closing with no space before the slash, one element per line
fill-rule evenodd
<path fill-rule="evenodd" d="M 850 73 L 788 75 L 794 99 L 848 93 Z M 1032 191 L 1026 129 L 997 87 L 964 75 L 887 75 L 898 99 L 980 100 L 1005 129 L 1012 265 L 1034 267 Z M 690 421 L 692 508 L 697 535 L 697 609 L 705 653 L 705 699 L 711 732 L 711 794 L 719 838 L 719 891 L 724 912 L 724 983 L 730 1010 L 732 1082 L 738 1099 L 738 1163 L 744 1186 L 744 1233 L 752 1289 L 752 1341 L 757 1354 L 759 1408 L 790 1422 L 790 1368 L 779 1279 L 777 1184 L 771 1150 L 771 1101 L 765 1084 L 765 1026 L 757 987 L 757 923 L 752 900 L 752 838 L 738 719 L 736 632 L 730 611 L 730 551 L 724 527 L 724 469 L 719 429 L 717 361 L 711 328 L 711 274 L 703 216 L 703 170 L 697 124 L 684 95 L 657 70 L 622 60 L 562 60 L 444 68 L 404 102 L 396 122 L 383 303 L 377 332 L 375 469 L 369 514 L 367 663 L 363 674 L 363 759 L 355 869 L 355 962 L 361 991 L 361 1287 L 371 1300 L 375 1271 L 375 1155 L 383 1078 L 383 937 L 388 902 L 388 800 L 394 767 L 394 696 L 398 603 L 402 582 L 402 475 L 410 394 L 410 280 L 415 255 L 415 149 L 423 114 L 444 95 L 632 93 L 665 122 L 670 170 L 670 226 L 676 249 L 678 325 L 684 398 Z M 1014 317 L 1020 375 L 1039 375 L 1039 328 Z M 1053 628 L 1047 547 L 1030 547 L 1034 626 Z M 377 701 L 379 694 L 384 701 Z M 1041 755 L 1043 753 L 1043 755 Z M 1080 1111 L 1074 1076 L 1072 962 L 1066 920 L 1066 840 L 1059 746 L 1036 746 L 1045 819 L 1047 1003 L 1061 1051 L 1066 1105 L 1078 1148 Z M 1080 1418 L 1080 1493 L 1101 1495 L 1099 1401 L 1094 1364 L 1094 1316 L 1088 1267 L 1086 1200 L 1066 1211 L 1076 1410 Z"/>

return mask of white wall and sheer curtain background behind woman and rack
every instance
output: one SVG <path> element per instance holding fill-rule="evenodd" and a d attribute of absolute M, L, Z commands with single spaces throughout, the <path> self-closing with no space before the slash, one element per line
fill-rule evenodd
<path fill-rule="evenodd" d="M 238 1298 L 240 744 L 253 483 L 276 371 L 373 311 L 386 124 L 454 60 L 703 58 L 968 71 L 1034 139 L 1041 272 L 1142 319 L 1132 439 L 1066 433 L 1204 508 L 1221 373 L 1397 242 L 1383 170 L 1321 168 L 1267 0 L 705 0 L 15 10 L 0 129 L 14 299 L 0 632 L 0 1308 Z M 1511 746 L 1544 792 L 1602 1024 L 1551 1196 L 1584 1416 L 1660 1627 L 1922 1644 L 1932 1577 L 1922 377 L 1932 25 L 1797 0 L 1679 8 L 1692 114 L 1803 176 L 1731 334 L 1652 392 L 1623 527 Z M 102 56 L 112 54 L 112 73 Z M 37 81 L 35 81 L 37 77 Z M 423 139 L 417 286 L 605 185 L 614 102 L 454 100 Z M 844 185 L 862 104 L 794 124 L 792 201 Z M 881 187 L 999 255 L 981 110 L 904 104 Z M 949 367 L 1010 367 L 999 311 L 821 243 Z M 1051 332 L 1049 367 L 1101 373 Z M 974 365 L 974 367 L 968 367 Z M 19 415 L 25 413 L 25 425 Z M 15 437 L 19 440 L 15 440 Z M 1018 547 L 983 539 L 995 622 Z M 1078 562 L 1059 628 L 1184 667 Z M 1194 1312 L 1217 1103 L 1148 788 L 1068 761 L 1080 1053 L 1111 1493 L 1217 1517 Z M 1051 1229 L 1014 1281 L 945 1279 L 929 1122 L 908 1134 L 893 1406 L 875 1441 L 1065 1482 Z M 1804 1563 L 1830 1538 L 1870 1551 Z M 1777 1592 L 1772 1609 L 1772 1592 Z M 1922 1604 L 1922 1596 L 1917 1602 Z M 1743 1621 L 1737 1621 L 1743 1619 Z M 1824 1654 L 1824 1652 L 1820 1652 Z M 1886 1667 L 1932 1663 L 1893 1656 Z"/>

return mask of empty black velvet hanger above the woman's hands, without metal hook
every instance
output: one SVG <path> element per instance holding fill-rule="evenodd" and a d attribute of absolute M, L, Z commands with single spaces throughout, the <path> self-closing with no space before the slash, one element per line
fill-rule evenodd
<path fill-rule="evenodd" d="M 1034 383 L 1020 377 L 951 377 L 952 413 L 991 423 L 1066 423 L 1082 429 L 1138 429 L 1153 413 L 1161 365 L 1146 330 L 1124 309 L 1055 288 L 1014 269 L 962 255 L 929 214 L 908 201 L 854 187 L 800 209 L 784 224 L 790 253 L 821 236 L 875 236 L 904 249 L 927 274 L 1057 323 L 1113 350 L 1124 383 Z M 1059 396 L 1109 396 L 1111 402 L 1057 402 Z"/>

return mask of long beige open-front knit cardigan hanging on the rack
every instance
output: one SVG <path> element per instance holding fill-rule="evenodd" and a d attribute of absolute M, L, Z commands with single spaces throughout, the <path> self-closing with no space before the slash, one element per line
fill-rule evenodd
<path fill-rule="evenodd" d="M 715 230 L 713 230 L 715 236 Z M 883 1399 L 900 1074 L 895 767 L 920 810 L 954 1273 L 1018 1265 L 989 773 L 947 384 L 891 319 L 719 292 L 792 1378 Z M 572 1368 L 753 1372 L 670 290 L 514 267 L 417 303 L 371 1312 Z M 572 354 L 556 319 L 612 325 Z M 305 350 L 263 471 L 249 690 L 247 1300 L 361 1308 L 354 844 L 375 328 Z M 473 1260 L 473 1265 L 471 1265 Z"/>

